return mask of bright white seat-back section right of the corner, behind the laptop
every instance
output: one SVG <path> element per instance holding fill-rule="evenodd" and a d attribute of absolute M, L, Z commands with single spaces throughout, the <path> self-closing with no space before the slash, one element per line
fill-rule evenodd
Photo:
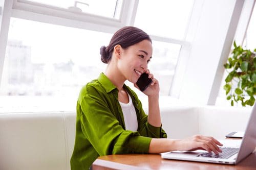
<path fill-rule="evenodd" d="M 233 131 L 245 131 L 252 108 L 202 107 L 198 109 L 199 134 L 218 139 Z"/>

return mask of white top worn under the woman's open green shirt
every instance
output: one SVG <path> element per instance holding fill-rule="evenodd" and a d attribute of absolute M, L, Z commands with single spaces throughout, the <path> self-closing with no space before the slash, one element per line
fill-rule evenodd
<path fill-rule="evenodd" d="M 137 131 L 138 130 L 138 120 L 135 108 L 133 106 L 132 98 L 129 96 L 129 103 L 122 103 L 119 101 L 125 124 L 125 130 Z"/>

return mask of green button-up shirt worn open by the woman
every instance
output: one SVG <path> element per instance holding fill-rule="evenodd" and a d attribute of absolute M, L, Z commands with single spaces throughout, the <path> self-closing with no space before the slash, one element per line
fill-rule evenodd
<path fill-rule="evenodd" d="M 152 138 L 166 138 L 161 127 L 147 123 L 147 115 L 134 91 L 131 95 L 138 119 L 138 131 L 125 130 L 118 89 L 104 74 L 82 87 L 76 107 L 76 137 L 71 169 L 89 169 L 98 156 L 148 153 Z"/>

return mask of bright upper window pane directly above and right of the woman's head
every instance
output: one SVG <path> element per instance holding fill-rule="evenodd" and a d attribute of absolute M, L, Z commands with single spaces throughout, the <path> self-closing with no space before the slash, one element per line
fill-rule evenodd
<path fill-rule="evenodd" d="M 135 26 L 148 34 L 183 39 L 194 1 L 140 0 Z"/>

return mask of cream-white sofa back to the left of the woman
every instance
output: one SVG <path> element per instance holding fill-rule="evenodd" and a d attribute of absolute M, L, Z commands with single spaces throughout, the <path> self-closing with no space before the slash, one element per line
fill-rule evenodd
<path fill-rule="evenodd" d="M 0 114 L 0 169 L 70 169 L 75 118 L 74 112 Z"/>

